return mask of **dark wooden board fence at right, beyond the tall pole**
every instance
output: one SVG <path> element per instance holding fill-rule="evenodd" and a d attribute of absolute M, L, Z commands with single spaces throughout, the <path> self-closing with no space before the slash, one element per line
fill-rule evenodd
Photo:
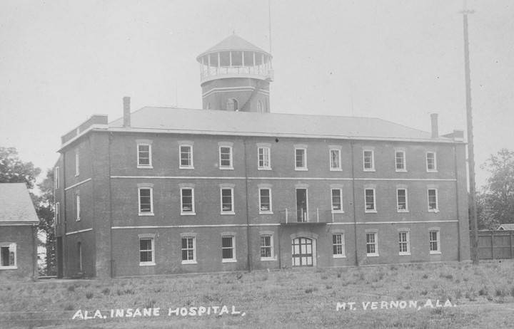
<path fill-rule="evenodd" d="M 478 258 L 514 258 L 514 231 L 478 231 Z"/>

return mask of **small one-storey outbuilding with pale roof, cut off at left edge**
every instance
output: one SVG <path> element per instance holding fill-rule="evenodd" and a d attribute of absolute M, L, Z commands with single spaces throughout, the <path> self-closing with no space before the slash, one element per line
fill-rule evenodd
<path fill-rule="evenodd" d="M 36 278 L 39 219 L 24 183 L 0 184 L 0 281 Z"/>

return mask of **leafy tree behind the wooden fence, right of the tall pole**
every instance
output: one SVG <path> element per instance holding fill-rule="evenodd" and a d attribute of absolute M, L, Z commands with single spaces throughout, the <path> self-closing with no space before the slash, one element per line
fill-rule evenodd
<path fill-rule="evenodd" d="M 514 152 L 502 149 L 481 166 L 490 172 L 484 187 L 485 213 L 490 223 L 514 223 Z M 485 217 L 484 217 L 485 218 Z"/>

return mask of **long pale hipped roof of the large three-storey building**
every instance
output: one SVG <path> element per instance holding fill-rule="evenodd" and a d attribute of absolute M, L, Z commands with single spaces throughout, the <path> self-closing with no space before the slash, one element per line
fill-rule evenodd
<path fill-rule="evenodd" d="M 123 127 L 123 118 L 109 123 L 109 130 L 126 129 Z M 131 113 L 131 130 L 206 135 L 453 142 L 453 139 L 448 137 L 432 138 L 430 132 L 376 117 L 249 113 L 184 108 L 141 108 Z"/>

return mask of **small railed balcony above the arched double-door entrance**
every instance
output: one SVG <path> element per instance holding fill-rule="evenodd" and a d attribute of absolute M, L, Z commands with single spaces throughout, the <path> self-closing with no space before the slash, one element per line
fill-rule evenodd
<path fill-rule="evenodd" d="M 331 209 L 296 209 L 286 208 L 278 211 L 281 225 L 325 225 L 334 221 Z"/>

